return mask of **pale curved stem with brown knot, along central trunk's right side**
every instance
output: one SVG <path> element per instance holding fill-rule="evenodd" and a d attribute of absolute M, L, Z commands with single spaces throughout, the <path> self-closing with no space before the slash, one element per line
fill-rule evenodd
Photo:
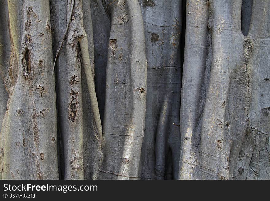
<path fill-rule="evenodd" d="M 119 3 L 119 2 L 118 2 Z M 123 3 L 123 2 L 122 2 Z M 145 40 L 141 8 L 137 1 L 128 1 L 128 13 L 131 16 L 131 78 L 133 86 L 133 114 L 129 135 L 125 137 L 122 163 L 119 173 L 123 175 L 139 175 L 141 146 L 144 136 L 145 105 L 146 105 L 146 77 L 147 62 L 145 58 Z M 125 160 L 129 160 L 125 162 Z M 125 179 L 125 176 L 118 176 Z"/>

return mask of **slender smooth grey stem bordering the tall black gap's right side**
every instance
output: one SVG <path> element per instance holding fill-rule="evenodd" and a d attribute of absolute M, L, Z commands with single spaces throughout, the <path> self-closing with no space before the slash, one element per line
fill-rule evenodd
<path fill-rule="evenodd" d="M 196 127 L 202 113 L 201 92 L 207 54 L 208 5 L 187 1 L 186 40 L 181 91 L 181 157 L 179 178 L 191 179 L 195 162 Z"/>

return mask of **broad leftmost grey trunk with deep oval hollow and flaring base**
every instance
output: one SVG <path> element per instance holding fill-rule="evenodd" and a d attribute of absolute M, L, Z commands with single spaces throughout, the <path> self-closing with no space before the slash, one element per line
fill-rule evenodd
<path fill-rule="evenodd" d="M 7 129 L 1 132 L 6 136 L 2 178 L 57 179 L 49 1 L 25 0 L 23 22 L 18 79 L 10 99 Z M 16 28 L 12 34 L 16 39 Z"/>

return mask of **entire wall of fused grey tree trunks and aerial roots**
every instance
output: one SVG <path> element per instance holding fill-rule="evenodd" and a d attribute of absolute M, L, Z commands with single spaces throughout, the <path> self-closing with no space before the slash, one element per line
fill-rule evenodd
<path fill-rule="evenodd" d="M 270 178 L 269 0 L 0 2 L 0 178 Z"/>

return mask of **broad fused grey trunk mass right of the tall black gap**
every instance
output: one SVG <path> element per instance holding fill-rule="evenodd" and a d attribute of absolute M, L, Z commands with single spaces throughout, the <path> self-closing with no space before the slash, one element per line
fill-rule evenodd
<path fill-rule="evenodd" d="M 186 35 L 202 30 L 186 37 L 180 179 L 269 178 L 269 1 L 253 1 L 247 36 L 241 3 L 187 1 Z"/>

